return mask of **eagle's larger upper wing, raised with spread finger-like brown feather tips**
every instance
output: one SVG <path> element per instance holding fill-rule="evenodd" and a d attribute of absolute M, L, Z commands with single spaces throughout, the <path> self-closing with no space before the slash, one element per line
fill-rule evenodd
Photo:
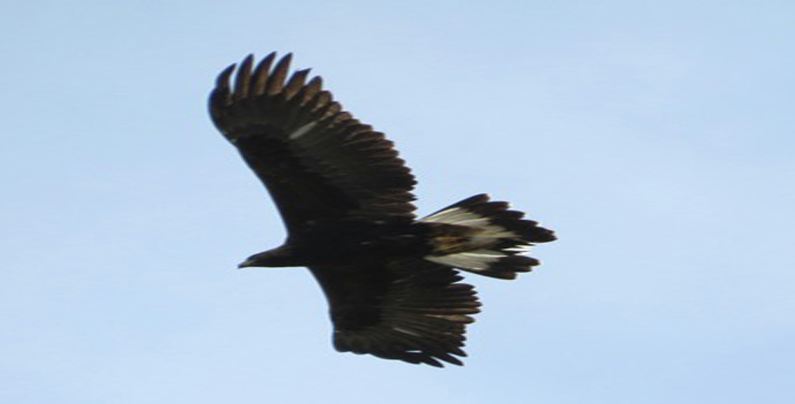
<path fill-rule="evenodd" d="M 363 125 L 291 55 L 248 56 L 218 78 L 213 122 L 265 183 L 291 233 L 333 217 L 413 217 L 415 183 L 383 133 Z M 231 75 L 237 71 L 234 83 Z"/>

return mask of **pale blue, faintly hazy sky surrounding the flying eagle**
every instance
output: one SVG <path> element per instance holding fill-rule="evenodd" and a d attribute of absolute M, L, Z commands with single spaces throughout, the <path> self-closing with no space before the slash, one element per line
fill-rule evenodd
<path fill-rule="evenodd" d="M 0 402 L 795 402 L 795 3 L 0 2 Z M 215 131 L 215 75 L 294 52 L 420 184 L 560 240 L 466 367 L 335 352 Z"/>

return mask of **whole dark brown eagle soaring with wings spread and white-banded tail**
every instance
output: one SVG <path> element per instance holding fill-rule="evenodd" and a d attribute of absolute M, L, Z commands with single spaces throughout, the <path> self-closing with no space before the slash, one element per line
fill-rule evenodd
<path fill-rule="evenodd" d="M 460 271 L 514 279 L 554 233 L 487 194 L 417 218 L 416 183 L 383 133 L 343 110 L 292 54 L 223 70 L 213 123 L 264 183 L 284 221 L 281 247 L 239 267 L 307 267 L 330 307 L 339 352 L 410 364 L 462 365 L 479 313 Z"/>

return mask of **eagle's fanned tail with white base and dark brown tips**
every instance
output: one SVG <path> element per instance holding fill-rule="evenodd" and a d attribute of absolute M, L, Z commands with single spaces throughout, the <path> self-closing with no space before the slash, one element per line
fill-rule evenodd
<path fill-rule="evenodd" d="M 433 252 L 425 259 L 463 271 L 500 279 L 528 272 L 538 260 L 522 256 L 534 243 L 555 240 L 551 230 L 524 214 L 509 210 L 507 202 L 491 202 L 475 195 L 448 206 L 421 222 L 432 226 Z"/>

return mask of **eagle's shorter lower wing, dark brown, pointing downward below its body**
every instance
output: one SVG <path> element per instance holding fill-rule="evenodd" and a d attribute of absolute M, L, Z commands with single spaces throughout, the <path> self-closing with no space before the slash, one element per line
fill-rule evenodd
<path fill-rule="evenodd" d="M 480 303 L 455 270 L 418 259 L 309 269 L 328 298 L 338 351 L 462 364 L 464 326 Z"/>

